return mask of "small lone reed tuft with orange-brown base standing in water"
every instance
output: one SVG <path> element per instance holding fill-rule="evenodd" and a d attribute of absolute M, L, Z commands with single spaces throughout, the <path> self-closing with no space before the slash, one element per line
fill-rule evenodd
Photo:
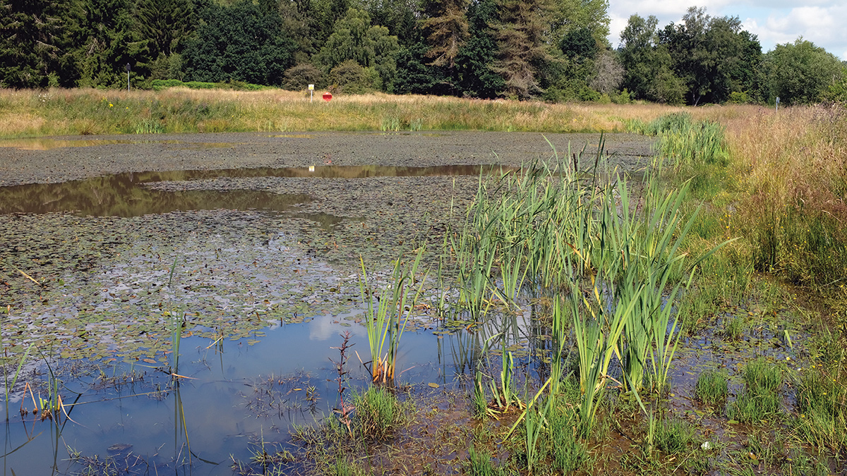
<path fill-rule="evenodd" d="M 368 283 L 368 271 L 362 264 L 362 278 L 359 291 L 365 302 L 365 327 L 368 329 L 368 344 L 371 360 L 369 371 L 374 383 L 391 384 L 396 376 L 396 357 L 403 331 L 412 313 L 418 297 L 424 290 L 426 276 L 418 279 L 418 267 L 424 247 L 414 257 L 411 267 L 401 258 L 394 263 L 390 281 L 382 291 L 374 290 Z M 419 285 L 416 288 L 416 285 Z"/>

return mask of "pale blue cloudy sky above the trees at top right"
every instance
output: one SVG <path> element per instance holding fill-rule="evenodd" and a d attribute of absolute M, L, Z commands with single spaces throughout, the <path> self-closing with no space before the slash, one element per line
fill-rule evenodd
<path fill-rule="evenodd" d="M 658 28 L 682 20 L 689 7 L 706 7 L 711 17 L 739 17 L 742 29 L 759 37 L 762 53 L 798 37 L 815 43 L 842 61 L 847 60 L 847 1 L 845 0 L 609 0 L 609 42 L 617 47 L 629 15 L 656 15 Z"/>

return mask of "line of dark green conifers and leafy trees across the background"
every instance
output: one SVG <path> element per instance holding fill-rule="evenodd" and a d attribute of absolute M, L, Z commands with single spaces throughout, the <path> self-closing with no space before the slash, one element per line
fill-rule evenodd
<path fill-rule="evenodd" d="M 799 38 L 762 53 L 738 17 L 607 0 L 0 0 L 0 86 L 244 82 L 465 97 L 674 104 L 844 100 L 847 69 Z"/>

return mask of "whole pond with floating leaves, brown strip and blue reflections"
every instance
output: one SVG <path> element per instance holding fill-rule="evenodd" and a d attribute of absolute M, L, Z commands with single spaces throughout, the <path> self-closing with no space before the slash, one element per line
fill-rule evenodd
<path fill-rule="evenodd" d="M 374 140 L 352 137 L 336 139 Z M 232 147 L 233 157 L 251 157 L 237 145 L 269 147 L 266 139 L 210 136 L 201 147 L 203 139 L 191 136 L 196 147 L 185 153 Z M 71 160 L 69 170 L 77 172 L 49 175 L 78 180 L 0 187 L 4 474 L 232 474 L 259 471 L 255 457 L 265 446 L 295 451 L 291 430 L 297 425 L 337 418 L 336 363 L 346 333 L 347 395 L 370 381 L 362 266 L 369 285 L 387 285 L 392 260 L 411 261 L 412 250 L 440 246 L 448 230 L 462 227 L 480 174 L 496 178 L 520 165 L 509 157 L 412 165 L 372 158 L 376 163 L 347 165 L 352 159 L 336 153 L 313 165 L 258 161 L 168 171 L 169 141 L 8 145 L 46 154 L 32 157 L 58 168 L 58 158 Z M 131 147 L 151 143 L 168 147 L 139 149 L 156 169 L 142 171 Z M 68 147 L 77 155 L 50 155 Z M 127 171 L 79 178 L 80 163 L 102 161 L 108 147 L 124 147 L 119 153 L 127 162 L 118 168 Z M 449 150 L 441 153 L 450 157 Z M 230 160 L 224 158 L 215 163 Z M 33 170 L 22 176 L 40 173 Z M 402 396 L 431 397 L 433 421 L 435 414 L 452 414 L 457 398 L 467 398 L 472 369 L 492 335 L 504 333 L 500 353 L 512 351 L 522 369 L 518 379 L 537 382 L 549 372 L 551 338 L 538 324 L 536 302 L 477 322 L 443 312 L 440 296 L 457 296 L 451 283 L 432 276 L 421 282 L 424 295 L 401 340 L 396 386 Z M 796 329 L 762 326 L 732 355 L 714 331 L 692 336 L 673 369 L 680 390 L 672 405 L 700 412 L 691 387 L 702 368 L 738 367 L 754 353 L 795 356 L 780 340 L 782 330 L 800 340 Z M 733 385 L 738 388 L 737 380 Z M 42 420 L 43 412 L 32 413 L 57 389 L 58 415 Z M 454 419 L 467 423 L 467 414 Z M 706 426 L 723 434 L 717 419 L 710 422 Z M 414 431 L 425 428 L 422 423 Z M 453 461 L 458 455 L 449 451 L 455 448 L 430 456 Z M 292 461 L 291 472 L 304 470 L 299 464 Z M 459 468 L 453 461 L 438 473 Z"/>

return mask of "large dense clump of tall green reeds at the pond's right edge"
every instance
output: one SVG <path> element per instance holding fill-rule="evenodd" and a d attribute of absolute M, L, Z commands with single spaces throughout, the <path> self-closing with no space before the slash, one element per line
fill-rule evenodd
<path fill-rule="evenodd" d="M 563 336 L 573 329 L 579 422 L 588 434 L 610 383 L 639 392 L 646 374 L 648 388 L 665 388 L 679 339 L 675 301 L 713 250 L 693 262 L 680 250 L 696 219 L 683 213 L 687 185 L 663 192 L 653 171 L 637 187 L 619 174 L 606 172 L 613 180 L 602 180 L 601 152 L 589 169 L 579 169 L 581 156 L 560 162 L 554 154 L 552 163 L 504 175 L 493 188 L 480 182 L 468 225 L 449 246 L 457 253 L 462 303 L 477 315 L 495 301 L 517 307 L 522 292 L 554 296 L 551 358 L 562 358 Z M 612 378 L 616 360 L 623 382 Z M 544 385 L 554 396 L 561 372 L 554 366 L 558 375 Z M 538 401 L 524 412 L 536 422 Z"/>

